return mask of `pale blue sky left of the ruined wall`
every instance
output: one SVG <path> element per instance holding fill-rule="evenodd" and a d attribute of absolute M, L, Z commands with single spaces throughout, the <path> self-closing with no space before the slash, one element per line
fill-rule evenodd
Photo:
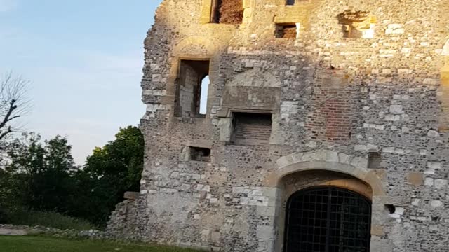
<path fill-rule="evenodd" d="M 67 136 L 78 164 L 145 113 L 143 40 L 161 0 L 0 0 L 0 73 L 30 80 L 23 130 Z"/>

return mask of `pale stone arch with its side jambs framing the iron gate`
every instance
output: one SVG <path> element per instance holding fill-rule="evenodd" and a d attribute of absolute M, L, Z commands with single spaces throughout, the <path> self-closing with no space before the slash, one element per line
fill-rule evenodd
<path fill-rule="evenodd" d="M 383 171 L 368 169 L 368 159 L 347 155 L 337 151 L 318 150 L 293 153 L 277 160 L 277 169 L 267 174 L 264 180 L 268 188 L 276 188 L 276 204 L 273 211 L 274 226 L 279 234 L 274 247 L 281 251 L 284 245 L 285 209 L 293 193 L 313 186 L 334 186 L 346 188 L 371 200 L 373 217 L 372 239 L 383 234 L 383 223 L 379 216 L 385 216 L 380 199 L 385 197 L 382 187 Z"/>

